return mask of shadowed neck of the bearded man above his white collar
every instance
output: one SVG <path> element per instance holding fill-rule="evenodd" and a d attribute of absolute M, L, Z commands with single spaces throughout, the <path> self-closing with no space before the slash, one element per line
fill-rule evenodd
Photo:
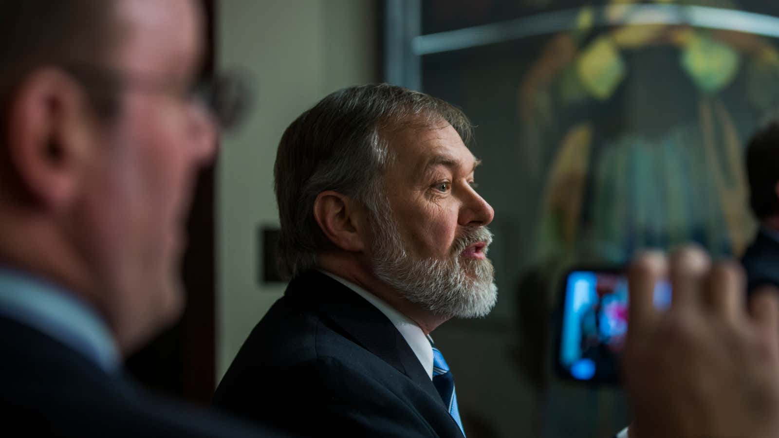
<path fill-rule="evenodd" d="M 408 301 L 400 291 L 379 280 L 370 269 L 369 263 L 352 253 L 323 253 L 317 257 L 319 268 L 351 281 L 359 287 L 379 297 L 393 309 L 403 313 L 414 321 L 425 334 L 449 320 L 446 316 L 435 315 L 418 304 Z"/>

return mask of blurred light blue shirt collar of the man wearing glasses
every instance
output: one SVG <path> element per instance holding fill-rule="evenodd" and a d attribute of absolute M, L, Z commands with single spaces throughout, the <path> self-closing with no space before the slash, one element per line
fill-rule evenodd
<path fill-rule="evenodd" d="M 0 267 L 0 316 L 23 323 L 118 371 L 119 352 L 104 320 L 76 295 L 29 274 Z"/>

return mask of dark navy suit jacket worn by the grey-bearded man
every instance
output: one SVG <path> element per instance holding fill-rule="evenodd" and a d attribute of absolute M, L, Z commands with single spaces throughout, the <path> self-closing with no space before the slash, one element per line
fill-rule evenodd
<path fill-rule="evenodd" d="M 317 271 L 291 281 L 252 330 L 214 402 L 317 436 L 462 437 L 393 323 Z"/>

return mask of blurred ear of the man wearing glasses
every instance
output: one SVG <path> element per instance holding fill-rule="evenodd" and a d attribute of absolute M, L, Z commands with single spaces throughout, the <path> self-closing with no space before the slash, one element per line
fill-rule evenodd
<path fill-rule="evenodd" d="M 90 132 L 86 99 L 58 69 L 28 76 L 9 104 L 7 147 L 24 196 L 49 210 L 66 210 L 77 196 Z"/>

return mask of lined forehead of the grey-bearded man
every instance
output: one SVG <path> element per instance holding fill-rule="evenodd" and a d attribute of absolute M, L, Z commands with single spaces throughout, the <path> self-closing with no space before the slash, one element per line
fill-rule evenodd
<path fill-rule="evenodd" d="M 470 172 L 477 160 L 460 134 L 443 122 L 428 127 L 409 127 L 390 141 L 396 167 L 403 173 L 422 175 L 433 164 L 449 163 Z"/>

